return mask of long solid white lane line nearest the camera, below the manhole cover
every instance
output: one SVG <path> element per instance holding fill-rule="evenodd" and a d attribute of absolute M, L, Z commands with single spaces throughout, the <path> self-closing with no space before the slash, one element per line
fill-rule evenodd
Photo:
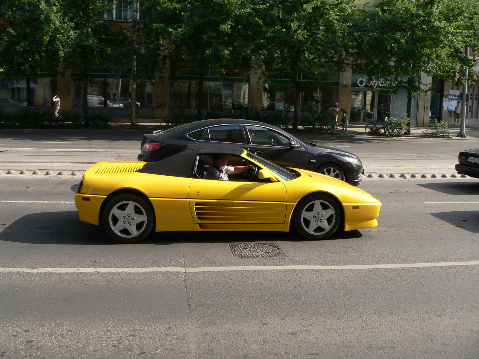
<path fill-rule="evenodd" d="M 468 262 L 438 263 L 399 263 L 399 264 L 366 264 L 349 266 L 242 266 L 242 267 L 146 267 L 146 268 L 1 268 L 0 273 L 151 273 L 151 272 L 226 272 L 238 270 L 343 270 L 343 269 L 389 269 L 389 268 L 424 268 L 450 266 L 477 266 L 479 260 Z"/>

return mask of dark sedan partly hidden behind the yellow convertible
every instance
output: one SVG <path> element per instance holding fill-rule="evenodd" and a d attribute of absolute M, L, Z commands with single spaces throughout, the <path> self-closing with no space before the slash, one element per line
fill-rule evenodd
<path fill-rule="evenodd" d="M 350 152 L 300 141 L 266 123 L 239 119 L 202 120 L 146 134 L 138 160 L 156 162 L 192 142 L 235 144 L 281 167 L 316 171 L 354 186 L 364 173 L 361 160 Z"/>

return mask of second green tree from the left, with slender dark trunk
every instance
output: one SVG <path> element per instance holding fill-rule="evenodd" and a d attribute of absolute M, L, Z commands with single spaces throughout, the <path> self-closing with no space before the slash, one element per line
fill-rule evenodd
<path fill-rule="evenodd" d="M 105 4 L 104 0 L 62 0 L 61 5 L 72 28 L 71 41 L 63 64 L 66 68 L 80 69 L 79 80 L 83 83 L 83 118 L 86 119 L 88 72 L 93 66 L 112 67 L 112 53 L 127 35 L 124 27 L 105 20 L 105 14 L 113 5 Z"/>

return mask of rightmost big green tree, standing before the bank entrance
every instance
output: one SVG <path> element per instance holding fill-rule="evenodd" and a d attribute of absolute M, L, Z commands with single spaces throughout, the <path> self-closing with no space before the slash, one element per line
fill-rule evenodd
<path fill-rule="evenodd" d="M 464 54 L 465 46 L 478 49 L 475 3 L 382 0 L 357 22 L 358 62 L 370 79 L 385 79 L 395 91 L 408 91 L 410 118 L 412 98 L 427 92 L 422 73 L 456 80 L 464 68 L 475 66 Z"/>

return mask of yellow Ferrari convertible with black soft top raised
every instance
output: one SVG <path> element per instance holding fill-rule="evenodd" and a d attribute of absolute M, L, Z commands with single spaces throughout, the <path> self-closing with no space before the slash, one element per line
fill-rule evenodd
<path fill-rule="evenodd" d="M 225 155 L 243 172 L 206 179 L 213 158 Z M 153 230 L 287 232 L 291 225 L 308 239 L 324 239 L 340 226 L 375 227 L 381 207 L 339 179 L 282 168 L 226 144 L 178 146 L 158 162 L 99 162 L 83 175 L 75 203 L 81 221 L 103 224 L 121 243 Z"/>

